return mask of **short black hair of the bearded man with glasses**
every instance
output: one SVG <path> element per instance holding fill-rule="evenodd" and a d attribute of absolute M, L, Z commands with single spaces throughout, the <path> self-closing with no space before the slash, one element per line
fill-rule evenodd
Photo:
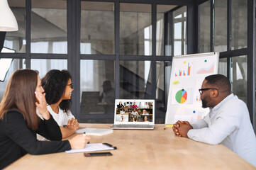
<path fill-rule="evenodd" d="M 230 81 L 226 76 L 223 76 L 222 74 L 213 74 L 205 79 L 207 81 L 206 84 L 211 84 L 213 87 L 216 87 L 223 92 L 231 93 Z"/>

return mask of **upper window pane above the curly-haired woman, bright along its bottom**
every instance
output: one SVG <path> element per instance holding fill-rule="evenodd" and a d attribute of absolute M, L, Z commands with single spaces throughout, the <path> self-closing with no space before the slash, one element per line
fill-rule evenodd
<path fill-rule="evenodd" d="M 67 54 L 67 1 L 31 4 L 31 52 Z"/>

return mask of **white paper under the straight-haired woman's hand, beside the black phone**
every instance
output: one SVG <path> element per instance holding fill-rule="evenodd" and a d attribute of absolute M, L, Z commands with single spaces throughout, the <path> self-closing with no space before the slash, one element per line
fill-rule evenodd
<path fill-rule="evenodd" d="M 92 151 L 101 151 L 101 150 L 113 150 L 114 147 L 109 147 L 108 145 L 104 145 L 103 143 L 95 143 L 95 144 L 87 144 L 84 149 L 71 149 L 66 151 L 66 153 L 77 153 L 77 152 L 92 152 Z"/>

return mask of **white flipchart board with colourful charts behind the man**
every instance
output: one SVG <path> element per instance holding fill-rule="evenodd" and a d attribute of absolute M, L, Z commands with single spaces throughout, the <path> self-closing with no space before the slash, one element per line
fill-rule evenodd
<path fill-rule="evenodd" d="M 165 124 L 177 120 L 194 123 L 208 113 L 208 108 L 202 108 L 199 89 L 205 77 L 218 73 L 218 55 L 209 52 L 173 57 Z"/>

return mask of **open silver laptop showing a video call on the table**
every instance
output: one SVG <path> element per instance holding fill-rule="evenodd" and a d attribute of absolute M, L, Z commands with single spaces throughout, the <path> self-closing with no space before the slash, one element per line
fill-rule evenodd
<path fill-rule="evenodd" d="M 153 130 L 155 128 L 155 101 L 116 99 L 114 116 L 111 129 Z"/>

